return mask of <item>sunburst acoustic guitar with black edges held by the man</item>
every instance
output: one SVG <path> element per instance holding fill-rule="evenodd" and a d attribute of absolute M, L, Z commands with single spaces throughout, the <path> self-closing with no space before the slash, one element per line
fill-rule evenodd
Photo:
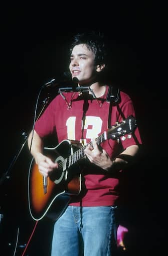
<path fill-rule="evenodd" d="M 136 120 L 129 116 L 98 136 L 96 143 L 100 145 L 107 139 L 116 140 L 120 136 L 133 133 L 135 128 Z M 89 144 L 92 145 L 92 141 Z M 87 145 L 82 146 L 78 141 L 63 140 L 56 147 L 44 147 L 44 154 L 59 166 L 47 178 L 40 174 L 38 165 L 32 158 L 28 175 L 28 202 L 34 220 L 50 216 L 51 208 L 54 208 L 54 219 L 57 220 L 65 211 L 72 196 L 79 195 L 82 190 L 80 162 L 85 158 L 84 150 Z"/>

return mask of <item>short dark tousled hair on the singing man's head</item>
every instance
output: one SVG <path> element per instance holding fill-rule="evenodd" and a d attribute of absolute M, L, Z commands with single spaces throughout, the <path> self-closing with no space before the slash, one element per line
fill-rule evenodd
<path fill-rule="evenodd" d="M 85 44 L 89 50 L 95 54 L 95 64 L 105 63 L 105 42 L 104 42 L 104 33 L 102 32 L 86 32 L 78 33 L 74 36 L 73 42 L 70 47 L 70 52 L 76 45 Z"/>

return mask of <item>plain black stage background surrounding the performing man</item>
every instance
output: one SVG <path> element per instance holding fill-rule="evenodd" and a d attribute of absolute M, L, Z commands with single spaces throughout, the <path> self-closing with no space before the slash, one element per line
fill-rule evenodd
<path fill-rule="evenodd" d="M 164 249 L 166 201 L 166 93 L 162 80 L 164 7 L 4 6 L 1 16 L 1 255 L 13 255 L 19 229 L 17 255 L 28 242 L 35 222 L 27 201 L 31 156 L 22 135 L 32 129 L 41 86 L 60 78 L 68 67 L 71 37 L 86 30 L 104 31 L 109 47 L 111 83 L 128 93 L 136 110 L 144 143 L 140 162 L 130 169 L 122 224 L 129 228 L 125 255 L 150 255 Z M 56 89 L 43 91 L 43 100 Z M 164 112 L 165 111 L 165 112 Z M 14 166 L 14 157 L 22 145 Z M 10 170 L 10 179 L 3 175 Z M 49 255 L 53 224 L 38 223 L 28 247 L 29 255 Z M 11 245 L 10 245 L 11 244 Z M 4 253 L 4 254 L 3 254 Z M 127 254 L 126 254 L 127 253 Z M 27 255 L 25 254 L 25 255 Z"/>

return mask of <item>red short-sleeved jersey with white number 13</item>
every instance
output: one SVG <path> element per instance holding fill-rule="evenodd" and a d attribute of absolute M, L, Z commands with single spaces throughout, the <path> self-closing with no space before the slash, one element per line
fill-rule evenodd
<path fill-rule="evenodd" d="M 79 93 L 64 93 L 56 96 L 46 108 L 35 125 L 36 132 L 40 137 L 55 134 L 58 142 L 65 139 L 78 140 L 87 144 L 92 138 L 98 137 L 108 129 L 109 103 L 106 101 L 108 86 L 104 96 L 95 100 L 92 96 L 83 97 Z M 122 122 L 124 116 L 135 117 L 134 107 L 129 96 L 120 92 L 120 103 L 112 107 L 111 125 Z M 68 104 L 70 108 L 68 108 Z M 122 115 L 121 115 L 122 114 Z M 110 158 L 116 157 L 128 146 L 141 144 L 138 127 L 134 136 L 125 135 L 124 140 L 108 139 L 101 147 L 106 150 Z M 122 172 L 113 176 L 94 164 L 87 164 L 82 172 L 86 193 L 72 197 L 70 205 L 75 206 L 110 206 L 117 204 L 119 199 L 119 185 Z"/>

